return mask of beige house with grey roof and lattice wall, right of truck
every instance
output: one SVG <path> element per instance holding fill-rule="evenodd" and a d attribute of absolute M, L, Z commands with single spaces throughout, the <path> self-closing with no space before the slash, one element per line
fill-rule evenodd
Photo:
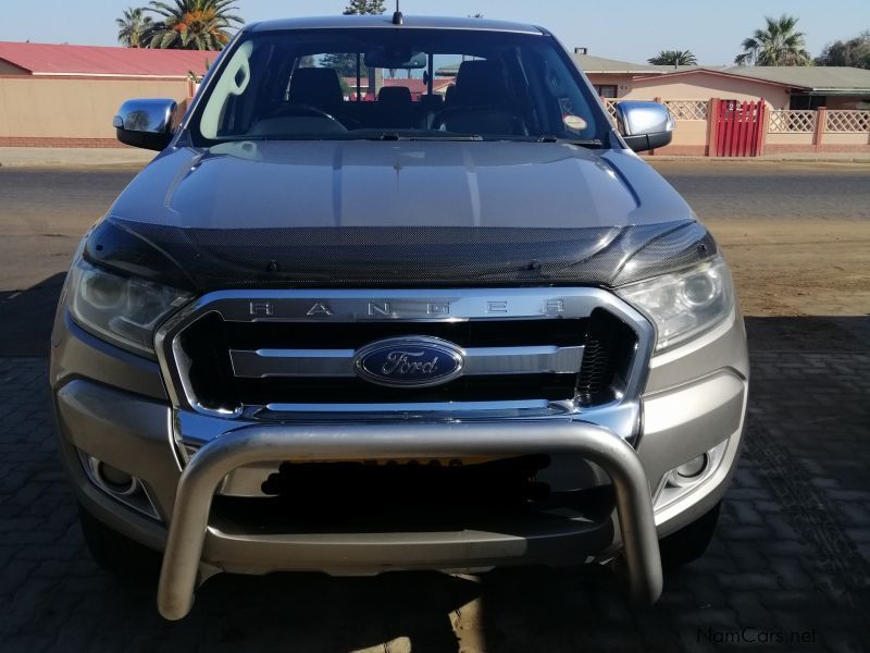
<path fill-rule="evenodd" d="M 870 152 L 870 71 L 835 66 L 660 66 L 592 57 L 577 65 L 614 114 L 621 100 L 664 103 L 673 143 L 655 153 L 713 156 L 716 100 L 766 106 L 762 153 Z"/>

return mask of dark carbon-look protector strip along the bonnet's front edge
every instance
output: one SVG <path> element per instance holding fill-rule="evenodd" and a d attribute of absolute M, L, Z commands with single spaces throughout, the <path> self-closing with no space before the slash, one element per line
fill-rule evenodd
<path fill-rule="evenodd" d="M 192 292 L 222 288 L 614 287 L 711 258 L 698 222 L 547 227 L 185 229 L 107 218 L 92 263 Z"/>

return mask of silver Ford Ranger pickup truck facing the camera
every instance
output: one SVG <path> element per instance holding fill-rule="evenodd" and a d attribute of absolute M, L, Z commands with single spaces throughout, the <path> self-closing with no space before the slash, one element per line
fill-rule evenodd
<path fill-rule="evenodd" d="M 59 442 L 95 558 L 214 574 L 613 565 L 709 543 L 748 360 L 716 242 L 540 27 L 247 26 L 75 255 Z M 661 542 L 660 542 L 661 540 Z"/>

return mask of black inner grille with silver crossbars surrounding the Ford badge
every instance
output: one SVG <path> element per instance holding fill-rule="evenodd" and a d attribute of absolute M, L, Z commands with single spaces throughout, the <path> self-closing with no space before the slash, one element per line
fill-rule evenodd
<path fill-rule="evenodd" d="M 344 316 L 340 321 L 246 321 L 238 312 L 220 307 L 210 310 L 204 305 L 173 335 L 171 353 L 186 398 L 200 409 L 221 414 L 266 406 L 274 408 L 272 415 L 287 414 L 300 405 L 316 412 L 330 412 L 331 406 L 338 405 L 362 409 L 366 405 L 373 409 L 408 405 L 425 410 L 426 405 L 453 403 L 572 402 L 592 407 L 624 395 L 638 335 L 623 317 L 607 308 L 577 311 L 581 315 L 576 316 L 564 315 L 568 311 L 554 316 L 529 312 L 520 318 L 460 316 L 442 321 L 347 321 Z M 487 365 L 494 358 L 510 357 L 521 365 L 495 373 L 489 373 L 489 368 L 476 373 L 467 370 L 431 387 L 382 386 L 353 373 L 355 352 L 383 340 L 413 336 L 447 341 L 468 353 L 486 352 Z M 538 358 L 524 355 L 533 349 L 544 354 Z M 302 372 L 270 368 L 266 373 L 262 366 L 274 365 L 274 360 L 263 358 L 268 356 L 264 353 L 274 352 L 304 356 L 308 366 L 319 365 L 318 355 L 338 353 L 345 358 L 323 373 L 316 367 Z"/>

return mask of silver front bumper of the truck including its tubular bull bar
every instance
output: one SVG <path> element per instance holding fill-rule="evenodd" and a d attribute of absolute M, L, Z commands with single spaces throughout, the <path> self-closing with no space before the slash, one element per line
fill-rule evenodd
<path fill-rule="evenodd" d="M 97 362 L 84 367 L 67 365 L 70 360 Z M 73 367 L 78 374 L 66 372 Z M 661 591 L 657 539 L 700 517 L 725 492 L 741 448 L 747 372 L 745 335 L 737 320 L 673 360 L 654 359 L 649 394 L 641 401 L 644 429 L 636 448 L 612 430 L 592 423 L 592 417 L 582 416 L 269 424 L 229 430 L 204 444 L 184 466 L 172 454 L 176 417 L 160 386 L 156 364 L 119 355 L 73 328 L 53 357 L 52 385 L 61 451 L 79 501 L 114 530 L 165 551 L 160 609 L 177 619 L 189 611 L 197 582 L 215 570 L 469 570 L 588 563 L 612 557 L 620 549 L 632 595 L 642 603 L 654 601 Z M 680 378 L 694 380 L 680 383 Z M 717 447 L 724 447 L 724 454 L 710 475 L 679 501 L 661 503 L 669 471 Z M 223 480 L 251 464 L 532 453 L 566 454 L 604 469 L 617 493 L 619 530 L 614 532 L 612 520 L 592 525 L 561 519 L 549 526 L 442 532 L 397 528 L 390 532 L 268 533 L 233 531 L 209 519 Z M 98 488 L 82 465 L 83 454 L 137 477 L 153 504 L 153 516 L 130 509 Z"/>

